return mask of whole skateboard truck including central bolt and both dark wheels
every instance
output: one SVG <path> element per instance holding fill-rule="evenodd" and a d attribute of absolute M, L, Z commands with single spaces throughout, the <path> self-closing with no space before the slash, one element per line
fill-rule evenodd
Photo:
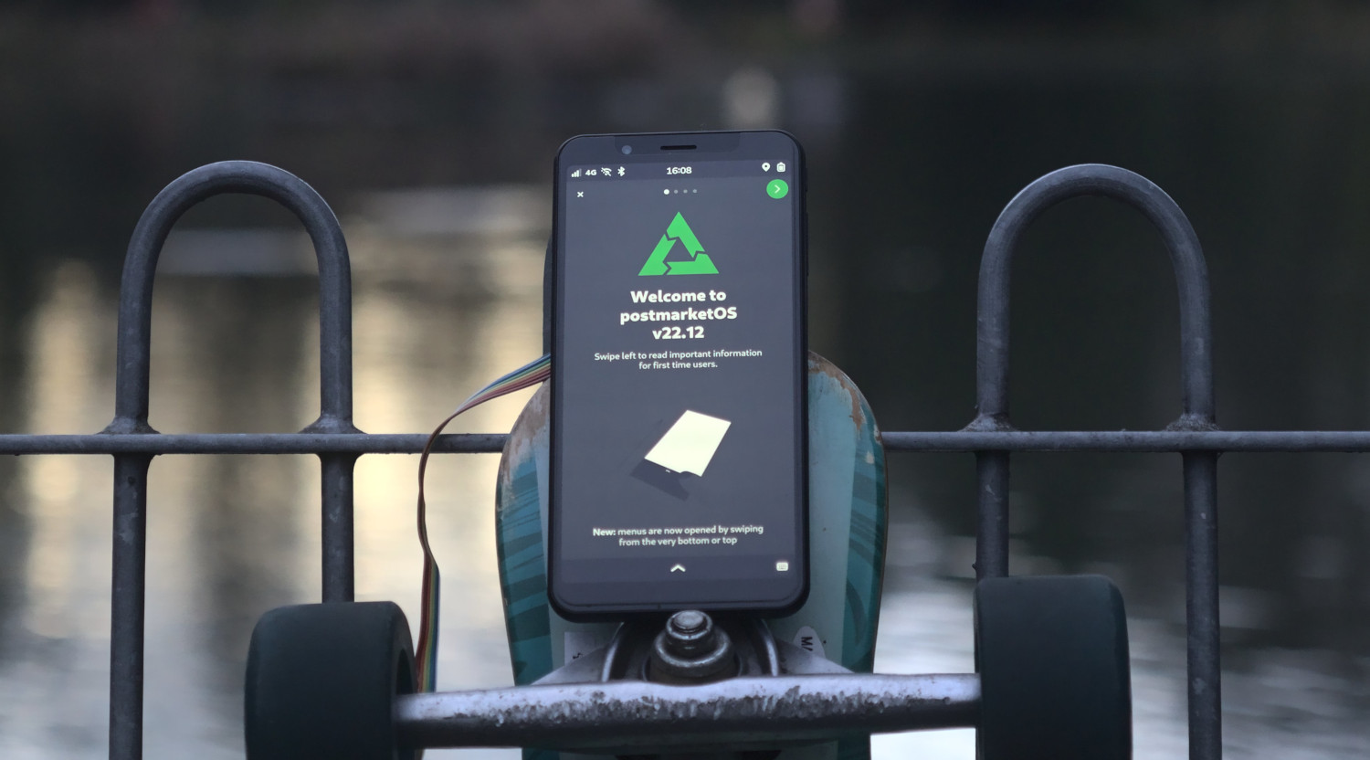
<path fill-rule="evenodd" d="M 248 652 L 248 757 L 381 760 L 463 746 L 730 755 L 956 727 L 980 731 L 986 760 L 1132 756 L 1126 619 L 1101 577 L 981 581 L 973 674 L 851 672 L 752 618 L 689 611 L 658 626 L 625 623 L 607 646 L 533 685 L 414 693 L 395 604 L 278 608 Z M 660 676 L 658 661 L 673 663 L 671 682 L 648 678 Z"/>

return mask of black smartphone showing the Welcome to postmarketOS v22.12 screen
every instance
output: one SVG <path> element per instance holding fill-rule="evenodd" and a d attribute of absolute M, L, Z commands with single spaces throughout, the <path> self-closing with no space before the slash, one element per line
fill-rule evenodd
<path fill-rule="evenodd" d="M 548 589 L 567 619 L 808 593 L 804 155 L 600 134 L 555 164 Z"/>

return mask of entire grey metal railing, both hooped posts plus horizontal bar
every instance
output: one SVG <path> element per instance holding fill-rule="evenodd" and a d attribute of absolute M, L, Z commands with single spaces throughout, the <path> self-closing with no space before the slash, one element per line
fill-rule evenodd
<path fill-rule="evenodd" d="M 152 283 L 167 233 L 195 204 L 222 193 L 273 199 L 304 223 L 319 263 L 321 414 L 300 433 L 160 434 L 148 425 Z M 1156 431 L 1021 431 L 1008 416 L 1010 263 L 1023 229 L 1044 210 L 1082 194 L 1107 196 L 1140 210 L 1170 251 L 1180 289 L 1180 418 Z M 322 470 L 325 601 L 353 593 L 352 471 L 369 453 L 419 453 L 426 435 L 371 435 L 352 425 L 352 311 L 347 242 L 333 211 L 297 177 L 252 162 L 193 170 L 163 189 L 133 233 L 119 300 L 115 416 L 90 435 L 0 434 L 3 455 L 114 456 L 114 572 L 111 583 L 110 757 L 142 755 L 144 577 L 148 466 L 158 455 L 312 453 Z M 1108 166 L 1048 174 L 1004 208 L 981 263 L 978 304 L 978 416 L 963 430 L 892 431 L 897 452 L 969 452 L 977 459 L 978 578 L 1008 574 L 1008 472 L 1012 452 L 1180 453 L 1186 515 L 1186 618 L 1189 756 L 1222 755 L 1218 620 L 1217 459 L 1221 452 L 1370 452 L 1370 431 L 1225 431 L 1214 420 L 1212 348 L 1207 267 L 1189 220 L 1145 178 Z M 438 438 L 437 452 L 499 452 L 501 434 Z M 893 676 L 892 676 L 893 678 Z M 912 682 L 911 682 L 912 683 Z M 726 687 L 719 687 L 726 692 Z M 532 693 L 530 693 L 532 694 Z M 532 696 L 530 696 L 532 698 Z M 415 702 L 416 705 L 418 702 Z M 415 709 L 418 709 L 415 707 Z M 627 730 L 627 729 L 625 729 Z M 651 727 L 638 727 L 651 731 Z M 886 729 L 888 730 L 888 729 Z"/>

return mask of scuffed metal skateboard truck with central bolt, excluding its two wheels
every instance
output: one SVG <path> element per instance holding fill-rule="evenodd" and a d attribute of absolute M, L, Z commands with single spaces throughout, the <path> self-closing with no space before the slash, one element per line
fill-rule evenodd
<path fill-rule="evenodd" d="M 400 696 L 399 744 L 725 756 L 975 722 L 975 675 L 854 674 L 754 618 L 689 609 L 653 630 L 625 623 L 532 686 Z"/>

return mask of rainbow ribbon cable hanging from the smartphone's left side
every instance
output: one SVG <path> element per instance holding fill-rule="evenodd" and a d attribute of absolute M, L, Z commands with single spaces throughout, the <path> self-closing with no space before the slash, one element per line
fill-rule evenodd
<path fill-rule="evenodd" d="M 419 644 L 414 653 L 419 692 L 433 692 L 437 686 L 437 613 L 441 575 L 437 570 L 437 560 L 433 559 L 433 548 L 427 540 L 427 504 L 423 501 L 423 472 L 427 471 L 427 457 L 433 452 L 433 444 L 437 441 L 438 434 L 443 433 L 443 429 L 466 409 L 480 407 L 490 398 L 499 398 L 506 393 L 532 388 L 551 375 L 552 357 L 548 355 L 499 378 L 463 401 L 455 412 L 437 426 L 437 430 L 429 435 L 427 444 L 423 445 L 423 455 L 419 456 L 419 544 L 423 545 L 423 597 L 422 616 L 419 619 Z"/>

